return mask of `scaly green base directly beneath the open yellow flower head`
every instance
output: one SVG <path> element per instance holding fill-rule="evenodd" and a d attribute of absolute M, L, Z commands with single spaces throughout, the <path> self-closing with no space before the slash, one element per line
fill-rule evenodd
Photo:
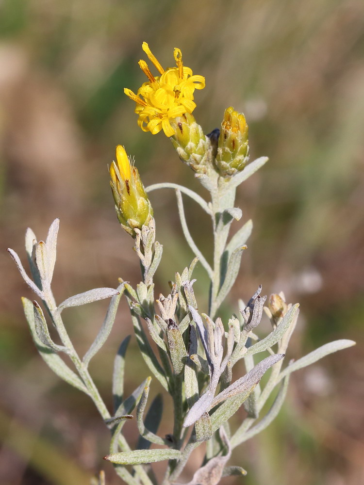
<path fill-rule="evenodd" d="M 172 122 L 172 127 L 175 129 L 175 134 L 171 137 L 172 144 L 182 162 L 187 163 L 197 173 L 205 173 L 211 142 L 196 123 L 194 116 L 184 113 Z"/>

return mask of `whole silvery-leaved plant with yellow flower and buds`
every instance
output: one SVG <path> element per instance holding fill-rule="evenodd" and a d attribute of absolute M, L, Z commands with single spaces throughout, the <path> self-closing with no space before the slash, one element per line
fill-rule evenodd
<path fill-rule="evenodd" d="M 262 167 L 267 158 L 261 157 L 247 164 L 248 125 L 244 115 L 232 107 L 225 111 L 221 129 L 204 134 L 192 112 L 196 107 L 194 92 L 204 88 L 205 79 L 193 75 L 192 70 L 182 64 L 179 49 L 174 49 L 176 67 L 167 70 L 157 61 L 148 44 L 143 43 L 143 50 L 160 76 L 154 76 L 147 63 L 139 61 L 148 81 L 142 84 L 137 94 L 125 89 L 136 103 L 138 125 L 152 134 L 163 130 L 171 138 L 180 159 L 209 192 L 209 200 L 178 184 L 159 183 L 144 188 L 125 148 L 118 145 L 116 161 L 110 166 L 111 188 L 117 218 L 132 236 L 141 264 L 142 280 L 136 288 L 120 280 L 116 289 L 86 291 L 57 305 L 51 291 L 51 279 L 56 261 L 58 219 L 50 226 L 45 242 L 38 242 L 33 231 L 27 230 L 26 252 L 33 279 L 27 275 L 17 254 L 11 249 L 9 252 L 45 309 L 44 312 L 37 302 L 23 298 L 35 345 L 53 372 L 93 400 L 112 435 L 105 459 L 115 465 L 119 477 L 129 485 L 156 485 L 157 479 L 149 464 L 165 460 L 162 484 L 175 483 L 193 450 L 206 442 L 204 464 L 196 470 L 188 485 L 215 485 L 223 476 L 246 473 L 240 466 L 227 466 L 232 450 L 263 431 L 277 416 L 290 374 L 354 342 L 336 340 L 283 365 L 298 319 L 298 304 L 286 303 L 282 293 L 267 299 L 261 295 L 261 286 L 247 304 L 239 301 L 238 311 L 232 313 L 228 322 L 222 321 L 219 309 L 235 283 L 252 230 L 249 220 L 229 239 L 232 221 L 242 217 L 242 211 L 234 207 L 236 189 Z M 189 267 L 175 273 L 168 294 L 155 298 L 153 278 L 163 247 L 155 239 L 148 194 L 165 188 L 175 191 L 183 233 L 196 257 Z M 182 194 L 192 198 L 211 217 L 212 263 L 204 257 L 189 232 Z M 193 289 L 193 271 L 198 261 L 210 280 L 206 313 L 199 312 Z M 129 303 L 140 353 L 151 374 L 172 398 L 174 417 L 171 432 L 166 436 L 157 434 L 163 412 L 162 397 L 157 395 L 146 411 L 151 377 L 146 377 L 130 396 L 124 395 L 125 356 L 130 336 L 121 342 L 115 358 L 112 411 L 105 405 L 88 371 L 91 358 L 111 332 L 122 295 Z M 62 311 L 103 298 L 111 298 L 104 322 L 89 350 L 80 357 L 67 334 Z M 272 330 L 266 336 L 259 336 L 255 332 L 264 312 Z M 61 344 L 51 338 L 47 320 L 57 330 Z M 66 354 L 71 362 L 66 363 L 60 353 Z M 246 373 L 235 379 L 233 367 L 241 360 Z M 261 378 L 269 369 L 265 385 L 261 386 Z M 262 415 L 272 392 L 276 392 L 274 403 Z M 246 418 L 232 430 L 229 419 L 242 405 L 247 412 Z M 134 409 L 140 439 L 137 448 L 132 450 L 122 431 L 125 421 L 132 419 Z M 151 448 L 152 444 L 156 447 Z M 101 474 L 99 483 L 102 481 Z"/>

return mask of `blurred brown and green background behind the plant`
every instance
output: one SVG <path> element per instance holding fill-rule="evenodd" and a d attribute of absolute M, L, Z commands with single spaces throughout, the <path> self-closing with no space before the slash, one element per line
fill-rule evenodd
<path fill-rule="evenodd" d="M 232 105 L 246 114 L 251 160 L 270 159 L 238 192 L 243 219 L 252 218 L 254 229 L 226 315 L 261 283 L 265 293 L 283 290 L 287 301 L 301 304 L 289 358 L 332 339 L 358 342 L 294 374 L 279 418 L 233 454 L 231 464 L 248 475 L 223 483 L 363 484 L 360 0 L 0 1 L 0 481 L 83 485 L 105 469 L 107 484 L 120 483 L 102 460 L 109 435 L 92 403 L 53 375 L 34 349 L 20 303 L 20 296 L 33 295 L 5 249 L 24 260 L 26 228 L 44 239 L 60 217 L 57 302 L 115 287 L 119 276 L 136 284 L 132 240 L 118 226 L 109 187 L 107 166 L 118 143 L 135 156 L 145 185 L 177 182 L 206 195 L 162 133 L 137 127 L 134 104 L 123 94 L 145 81 L 137 65 L 145 58 L 142 41 L 165 67 L 179 47 L 185 65 L 205 76 L 194 115 L 206 133 Z M 193 256 L 173 192 L 150 199 L 165 246 L 157 291 L 166 294 L 174 271 Z M 191 232 L 209 256 L 209 221 L 185 204 Z M 199 267 L 196 275 L 203 310 L 206 278 Z M 81 355 L 106 308 L 105 301 L 66 310 Z M 108 404 L 113 359 L 131 332 L 122 302 L 112 335 L 90 366 Z M 128 393 L 149 375 L 134 339 L 126 369 Z M 243 417 L 240 410 L 236 422 Z M 135 423 L 124 429 L 135 446 Z M 161 433 L 169 431 L 165 420 Z M 199 467 L 200 448 L 181 480 Z"/>

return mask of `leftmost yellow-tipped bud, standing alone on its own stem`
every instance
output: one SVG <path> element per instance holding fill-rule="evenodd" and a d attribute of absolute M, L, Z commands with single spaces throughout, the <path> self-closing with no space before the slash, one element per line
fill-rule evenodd
<path fill-rule="evenodd" d="M 116 162 L 110 166 L 110 176 L 119 223 L 128 234 L 135 237 L 134 229 L 141 229 L 149 223 L 153 209 L 138 170 L 121 145 L 116 146 Z"/>

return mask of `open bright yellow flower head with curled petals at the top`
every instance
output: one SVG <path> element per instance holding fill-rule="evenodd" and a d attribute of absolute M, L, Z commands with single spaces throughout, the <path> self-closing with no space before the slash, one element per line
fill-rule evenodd
<path fill-rule="evenodd" d="M 166 136 L 172 136 L 175 129 L 171 126 L 170 120 L 193 112 L 196 108 L 193 100 L 194 91 L 205 87 L 205 78 L 193 75 L 192 69 L 183 65 L 180 49 L 175 48 L 173 52 L 177 67 L 171 67 L 166 71 L 146 42 L 143 42 L 142 49 L 160 76 L 153 76 L 147 63 L 140 60 L 140 68 L 148 81 L 142 84 L 136 94 L 127 88 L 124 89 L 124 93 L 136 102 L 135 113 L 139 116 L 138 125 L 143 131 L 150 131 L 155 135 L 163 129 Z"/>

